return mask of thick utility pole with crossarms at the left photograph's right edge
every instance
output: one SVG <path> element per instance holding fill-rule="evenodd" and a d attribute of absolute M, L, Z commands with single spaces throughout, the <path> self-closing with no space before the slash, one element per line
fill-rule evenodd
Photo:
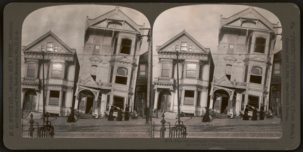
<path fill-rule="evenodd" d="M 140 30 L 146 30 L 148 29 L 148 34 L 147 35 L 141 35 L 141 36 L 147 36 L 147 42 L 148 42 L 148 74 L 147 74 L 147 101 L 146 101 L 146 108 L 145 108 L 145 112 L 146 112 L 146 124 L 148 123 L 149 119 L 152 122 L 152 106 L 151 106 L 151 99 L 152 99 L 152 90 L 151 90 L 151 75 L 152 75 L 152 66 L 151 66 L 151 29 L 149 28 L 143 28 Z"/>

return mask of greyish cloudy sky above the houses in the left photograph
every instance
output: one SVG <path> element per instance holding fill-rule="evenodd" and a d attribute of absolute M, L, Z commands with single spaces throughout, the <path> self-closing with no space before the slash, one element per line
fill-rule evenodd
<path fill-rule="evenodd" d="M 60 5 L 40 8 L 29 14 L 22 25 L 22 46 L 27 46 L 49 30 L 71 49 L 76 49 L 78 58 L 83 51 L 86 16 L 95 19 L 115 9 L 111 5 Z M 148 19 L 142 13 L 125 7 L 119 9 L 138 25 L 145 23 L 150 28 Z M 145 31 L 145 35 L 148 30 Z M 147 38 L 142 41 L 140 54 L 148 49 Z"/>

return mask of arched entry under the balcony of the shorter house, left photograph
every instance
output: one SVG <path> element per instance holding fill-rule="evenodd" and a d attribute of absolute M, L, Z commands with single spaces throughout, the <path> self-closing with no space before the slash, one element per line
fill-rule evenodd
<path fill-rule="evenodd" d="M 23 98 L 23 110 L 35 110 L 37 101 L 37 93 L 34 90 L 27 90 Z"/>

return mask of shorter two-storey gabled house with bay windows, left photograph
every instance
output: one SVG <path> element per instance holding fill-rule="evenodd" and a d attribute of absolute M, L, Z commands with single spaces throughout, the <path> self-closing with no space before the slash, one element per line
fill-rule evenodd
<path fill-rule="evenodd" d="M 43 112 L 42 51 L 45 52 L 45 111 L 66 116 L 75 102 L 73 95 L 80 66 L 76 50 L 51 31 L 22 47 L 22 109 Z"/>

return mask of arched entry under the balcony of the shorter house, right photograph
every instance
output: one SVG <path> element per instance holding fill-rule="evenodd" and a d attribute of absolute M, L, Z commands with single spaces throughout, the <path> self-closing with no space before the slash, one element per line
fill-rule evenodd
<path fill-rule="evenodd" d="M 171 108 L 171 92 L 162 90 L 158 96 L 158 110 L 170 110 Z"/>

